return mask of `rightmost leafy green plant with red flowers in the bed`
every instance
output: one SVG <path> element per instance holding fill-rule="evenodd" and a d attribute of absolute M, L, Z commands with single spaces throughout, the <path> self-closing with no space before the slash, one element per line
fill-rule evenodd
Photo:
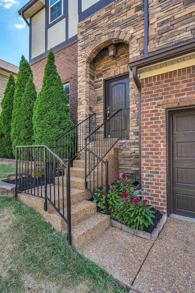
<path fill-rule="evenodd" d="M 144 225 L 146 227 L 150 224 L 154 225 L 151 219 L 154 218 L 154 212 L 150 210 L 152 206 L 149 206 L 147 202 L 147 200 L 141 202 L 138 197 L 136 197 L 133 202 L 130 202 L 124 218 L 124 222 L 127 226 L 131 226 L 131 228 L 137 230 L 143 230 Z"/>

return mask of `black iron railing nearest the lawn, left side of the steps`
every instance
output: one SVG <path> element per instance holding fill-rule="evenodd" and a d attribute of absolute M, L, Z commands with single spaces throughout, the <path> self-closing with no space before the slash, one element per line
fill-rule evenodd
<path fill-rule="evenodd" d="M 46 145 L 17 146 L 16 197 L 17 193 L 43 198 L 45 211 L 49 202 L 67 223 L 67 240 L 71 244 L 69 162 L 65 163 Z"/>

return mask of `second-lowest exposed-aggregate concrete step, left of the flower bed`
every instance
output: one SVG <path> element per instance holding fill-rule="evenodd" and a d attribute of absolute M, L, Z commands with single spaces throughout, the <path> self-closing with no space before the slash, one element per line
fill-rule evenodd
<path fill-rule="evenodd" d="M 75 204 L 71 204 L 71 225 L 75 225 L 81 220 L 96 213 L 97 205 L 92 201 L 81 201 Z M 64 216 L 67 219 L 67 209 L 64 210 Z M 62 219 L 62 228 L 66 229 L 67 224 Z"/>

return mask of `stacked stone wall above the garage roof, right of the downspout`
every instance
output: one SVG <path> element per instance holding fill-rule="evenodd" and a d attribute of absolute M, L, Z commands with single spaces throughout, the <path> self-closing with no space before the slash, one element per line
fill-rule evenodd
<path fill-rule="evenodd" d="M 168 48 L 194 38 L 193 0 L 150 0 L 148 52 Z"/>

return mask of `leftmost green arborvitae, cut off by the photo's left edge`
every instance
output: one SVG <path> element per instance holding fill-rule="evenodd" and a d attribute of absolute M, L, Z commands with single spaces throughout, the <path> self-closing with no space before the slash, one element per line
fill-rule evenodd
<path fill-rule="evenodd" d="M 12 157 L 11 118 L 13 110 L 13 96 L 15 91 L 15 81 L 10 73 L 1 102 L 2 112 L 0 115 L 0 157 Z M 15 156 L 15 153 L 14 153 Z"/>

